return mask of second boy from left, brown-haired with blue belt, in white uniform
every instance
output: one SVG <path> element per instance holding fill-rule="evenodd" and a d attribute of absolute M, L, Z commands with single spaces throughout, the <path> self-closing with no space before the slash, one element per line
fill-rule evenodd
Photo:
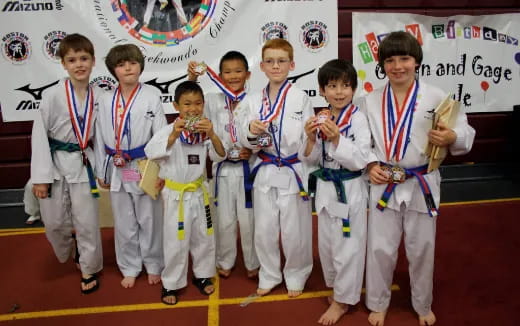
<path fill-rule="evenodd" d="M 162 203 L 139 188 L 137 159 L 144 146 L 166 125 L 160 96 L 139 83 L 144 58 L 136 45 L 113 47 L 105 64 L 119 86 L 100 103 L 97 121 L 96 159 L 98 182 L 110 189 L 116 260 L 123 274 L 121 285 L 131 288 L 142 266 L 150 285 L 160 282 L 162 257 Z"/>

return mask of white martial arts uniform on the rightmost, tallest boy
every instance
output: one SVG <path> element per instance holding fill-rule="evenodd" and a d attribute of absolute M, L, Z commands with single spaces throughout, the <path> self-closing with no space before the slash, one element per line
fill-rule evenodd
<path fill-rule="evenodd" d="M 399 162 L 392 158 L 386 161 L 382 123 L 382 95 L 384 87 L 360 99 L 360 107 L 367 115 L 374 147 L 369 162 L 380 161 L 402 168 L 416 168 L 428 164 L 424 154 L 428 144 L 428 131 L 432 127 L 431 110 L 446 97 L 446 94 L 424 82 L 419 83 L 417 105 L 413 113 L 411 135 L 405 156 Z M 461 109 L 453 128 L 456 141 L 449 146 L 452 155 L 470 151 L 475 130 L 468 125 L 466 114 Z M 440 202 L 438 170 L 424 175 L 434 198 L 435 207 Z M 428 215 L 423 192 L 417 178 L 412 177 L 398 184 L 389 198 L 384 211 L 376 206 L 386 184 L 370 186 L 370 213 L 368 218 L 368 246 L 366 303 L 372 311 L 385 311 L 390 303 L 390 286 L 397 261 L 397 250 L 404 231 L 404 244 L 409 262 L 412 305 L 424 316 L 431 311 L 433 289 L 433 261 L 435 248 L 436 217 Z"/>

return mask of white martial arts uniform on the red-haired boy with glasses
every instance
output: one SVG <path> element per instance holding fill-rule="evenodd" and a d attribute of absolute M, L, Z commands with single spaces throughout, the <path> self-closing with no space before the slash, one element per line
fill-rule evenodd
<path fill-rule="evenodd" d="M 244 146 L 256 149 L 247 136 L 249 123 L 259 119 L 262 93 L 248 95 L 245 101 L 249 102 L 250 113 L 242 123 L 240 137 Z M 287 158 L 297 154 L 303 146 L 304 124 L 314 111 L 307 95 L 296 86 L 289 89 L 284 107 L 283 114 L 279 114 L 273 125 L 276 126 L 276 141 L 280 144 L 279 129 L 282 123 L 280 155 Z M 274 143 L 263 151 L 278 155 Z M 254 166 L 260 162 L 258 158 Z M 306 186 L 309 167 L 301 162 L 292 167 Z M 259 288 L 272 289 L 282 282 L 278 240 L 281 234 L 285 284 L 288 290 L 303 290 L 312 270 L 312 217 L 310 201 L 304 201 L 300 196 L 294 172 L 286 166 L 269 164 L 260 167 L 253 185 L 253 202 L 255 247 L 260 260 Z"/>

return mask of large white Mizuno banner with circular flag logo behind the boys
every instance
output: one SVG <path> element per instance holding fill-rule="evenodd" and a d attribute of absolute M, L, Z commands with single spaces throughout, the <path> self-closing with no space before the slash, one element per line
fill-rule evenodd
<path fill-rule="evenodd" d="M 32 120 L 42 94 L 66 76 L 56 57 L 67 33 L 81 33 L 93 43 L 96 66 L 92 83 L 116 84 L 104 64 L 108 50 L 134 43 L 145 55 L 141 81 L 161 92 L 166 113 L 176 85 L 186 79 L 191 60 L 215 71 L 222 55 L 237 50 L 248 58 L 258 90 L 267 79 L 259 69 L 265 40 L 287 39 L 296 69 L 289 78 L 315 106 L 317 68 L 338 56 L 337 1 L 274 0 L 16 0 L 0 5 L 0 105 L 4 121 Z M 206 77 L 205 92 L 216 91 Z"/>

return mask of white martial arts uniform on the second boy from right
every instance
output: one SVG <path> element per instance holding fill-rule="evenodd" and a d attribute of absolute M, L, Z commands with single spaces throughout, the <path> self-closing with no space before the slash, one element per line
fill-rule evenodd
<path fill-rule="evenodd" d="M 325 158 L 323 157 L 325 144 Z M 308 157 L 311 164 L 329 169 L 360 171 L 370 152 L 370 130 L 361 111 L 352 115 L 347 134 L 338 146 L 316 140 Z M 318 248 L 325 284 L 334 289 L 334 300 L 354 305 L 359 302 L 365 270 L 368 183 L 364 176 L 343 181 L 347 204 L 340 203 L 331 181 L 317 179 L 315 207 L 318 213 Z M 350 237 L 343 235 L 342 219 L 349 219 Z"/>

